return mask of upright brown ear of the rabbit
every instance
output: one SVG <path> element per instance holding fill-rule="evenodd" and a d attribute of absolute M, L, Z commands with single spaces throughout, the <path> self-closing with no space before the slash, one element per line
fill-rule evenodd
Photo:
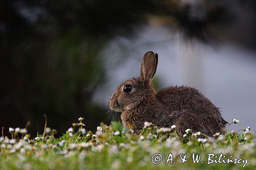
<path fill-rule="evenodd" d="M 140 79 L 150 80 L 157 70 L 158 55 L 152 51 L 146 52 L 140 67 Z"/>

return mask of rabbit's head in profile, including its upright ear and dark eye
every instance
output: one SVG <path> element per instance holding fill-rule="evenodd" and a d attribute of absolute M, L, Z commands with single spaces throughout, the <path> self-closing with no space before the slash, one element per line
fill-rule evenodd
<path fill-rule="evenodd" d="M 156 73 L 157 62 L 157 54 L 152 51 L 145 53 L 141 62 L 140 77 L 126 80 L 118 86 L 109 101 L 112 110 L 131 110 L 142 101 L 155 98 L 152 78 Z"/>

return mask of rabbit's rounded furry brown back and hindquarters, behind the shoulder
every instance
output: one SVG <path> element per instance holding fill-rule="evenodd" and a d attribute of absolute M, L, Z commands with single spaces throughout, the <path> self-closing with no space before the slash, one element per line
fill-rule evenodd
<path fill-rule="evenodd" d="M 227 123 L 219 109 L 195 88 L 167 87 L 160 90 L 156 98 L 172 114 L 180 135 L 188 128 L 212 135 L 221 132 Z"/>

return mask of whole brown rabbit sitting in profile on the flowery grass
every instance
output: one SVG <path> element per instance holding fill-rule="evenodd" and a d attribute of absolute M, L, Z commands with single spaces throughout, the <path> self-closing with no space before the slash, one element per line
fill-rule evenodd
<path fill-rule="evenodd" d="M 156 93 L 152 78 L 157 62 L 157 54 L 146 52 L 140 77 L 126 80 L 112 95 L 110 108 L 122 112 L 123 126 L 138 132 L 144 122 L 152 122 L 159 127 L 176 125 L 179 135 L 188 128 L 208 136 L 222 132 L 227 122 L 218 108 L 195 88 L 166 87 Z"/>

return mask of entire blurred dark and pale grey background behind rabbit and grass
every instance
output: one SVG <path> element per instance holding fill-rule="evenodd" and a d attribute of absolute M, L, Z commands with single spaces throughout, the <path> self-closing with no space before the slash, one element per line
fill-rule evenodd
<path fill-rule="evenodd" d="M 254 1 L 0 1 L 0 126 L 60 135 L 78 117 L 110 124 L 116 87 L 159 55 L 157 90 L 200 90 L 232 122 L 256 130 Z M 231 126 L 230 130 L 240 129 Z"/>

